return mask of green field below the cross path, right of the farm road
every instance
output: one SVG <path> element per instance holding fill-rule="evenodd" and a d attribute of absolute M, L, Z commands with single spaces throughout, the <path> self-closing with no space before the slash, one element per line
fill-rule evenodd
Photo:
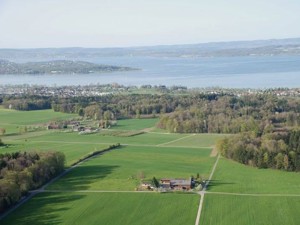
<path fill-rule="evenodd" d="M 300 197 L 206 194 L 201 225 L 298 225 Z"/>

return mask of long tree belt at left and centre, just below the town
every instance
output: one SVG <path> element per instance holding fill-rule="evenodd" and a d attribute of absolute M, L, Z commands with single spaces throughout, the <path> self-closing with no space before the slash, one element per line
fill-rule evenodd
<path fill-rule="evenodd" d="M 6 95 L 2 97 L 2 104 L 5 108 L 16 110 L 52 108 L 56 112 L 76 113 L 87 117 L 99 117 L 105 111 L 110 111 L 115 118 L 121 119 L 170 113 L 178 107 L 197 105 L 201 99 L 215 99 L 217 96 L 216 94 L 109 94 L 87 97 L 59 97 L 28 94 L 22 97 Z M 91 109 L 94 110 L 93 115 L 91 115 Z"/>

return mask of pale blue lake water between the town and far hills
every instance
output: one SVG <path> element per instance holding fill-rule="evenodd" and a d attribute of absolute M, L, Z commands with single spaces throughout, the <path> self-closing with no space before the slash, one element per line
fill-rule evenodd
<path fill-rule="evenodd" d="M 187 87 L 300 87 L 300 56 L 159 58 L 106 57 L 77 59 L 140 68 L 100 74 L 0 75 L 0 84 L 48 86 L 119 83 Z M 24 61 L 24 60 L 23 60 Z M 27 59 L 27 61 L 31 61 Z M 40 61 L 43 61 L 41 59 Z"/>

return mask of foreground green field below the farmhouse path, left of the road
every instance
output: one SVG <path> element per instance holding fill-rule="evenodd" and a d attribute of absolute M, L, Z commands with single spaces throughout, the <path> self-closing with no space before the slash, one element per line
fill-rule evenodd
<path fill-rule="evenodd" d="M 199 195 L 42 193 L 1 225 L 193 225 Z"/>

